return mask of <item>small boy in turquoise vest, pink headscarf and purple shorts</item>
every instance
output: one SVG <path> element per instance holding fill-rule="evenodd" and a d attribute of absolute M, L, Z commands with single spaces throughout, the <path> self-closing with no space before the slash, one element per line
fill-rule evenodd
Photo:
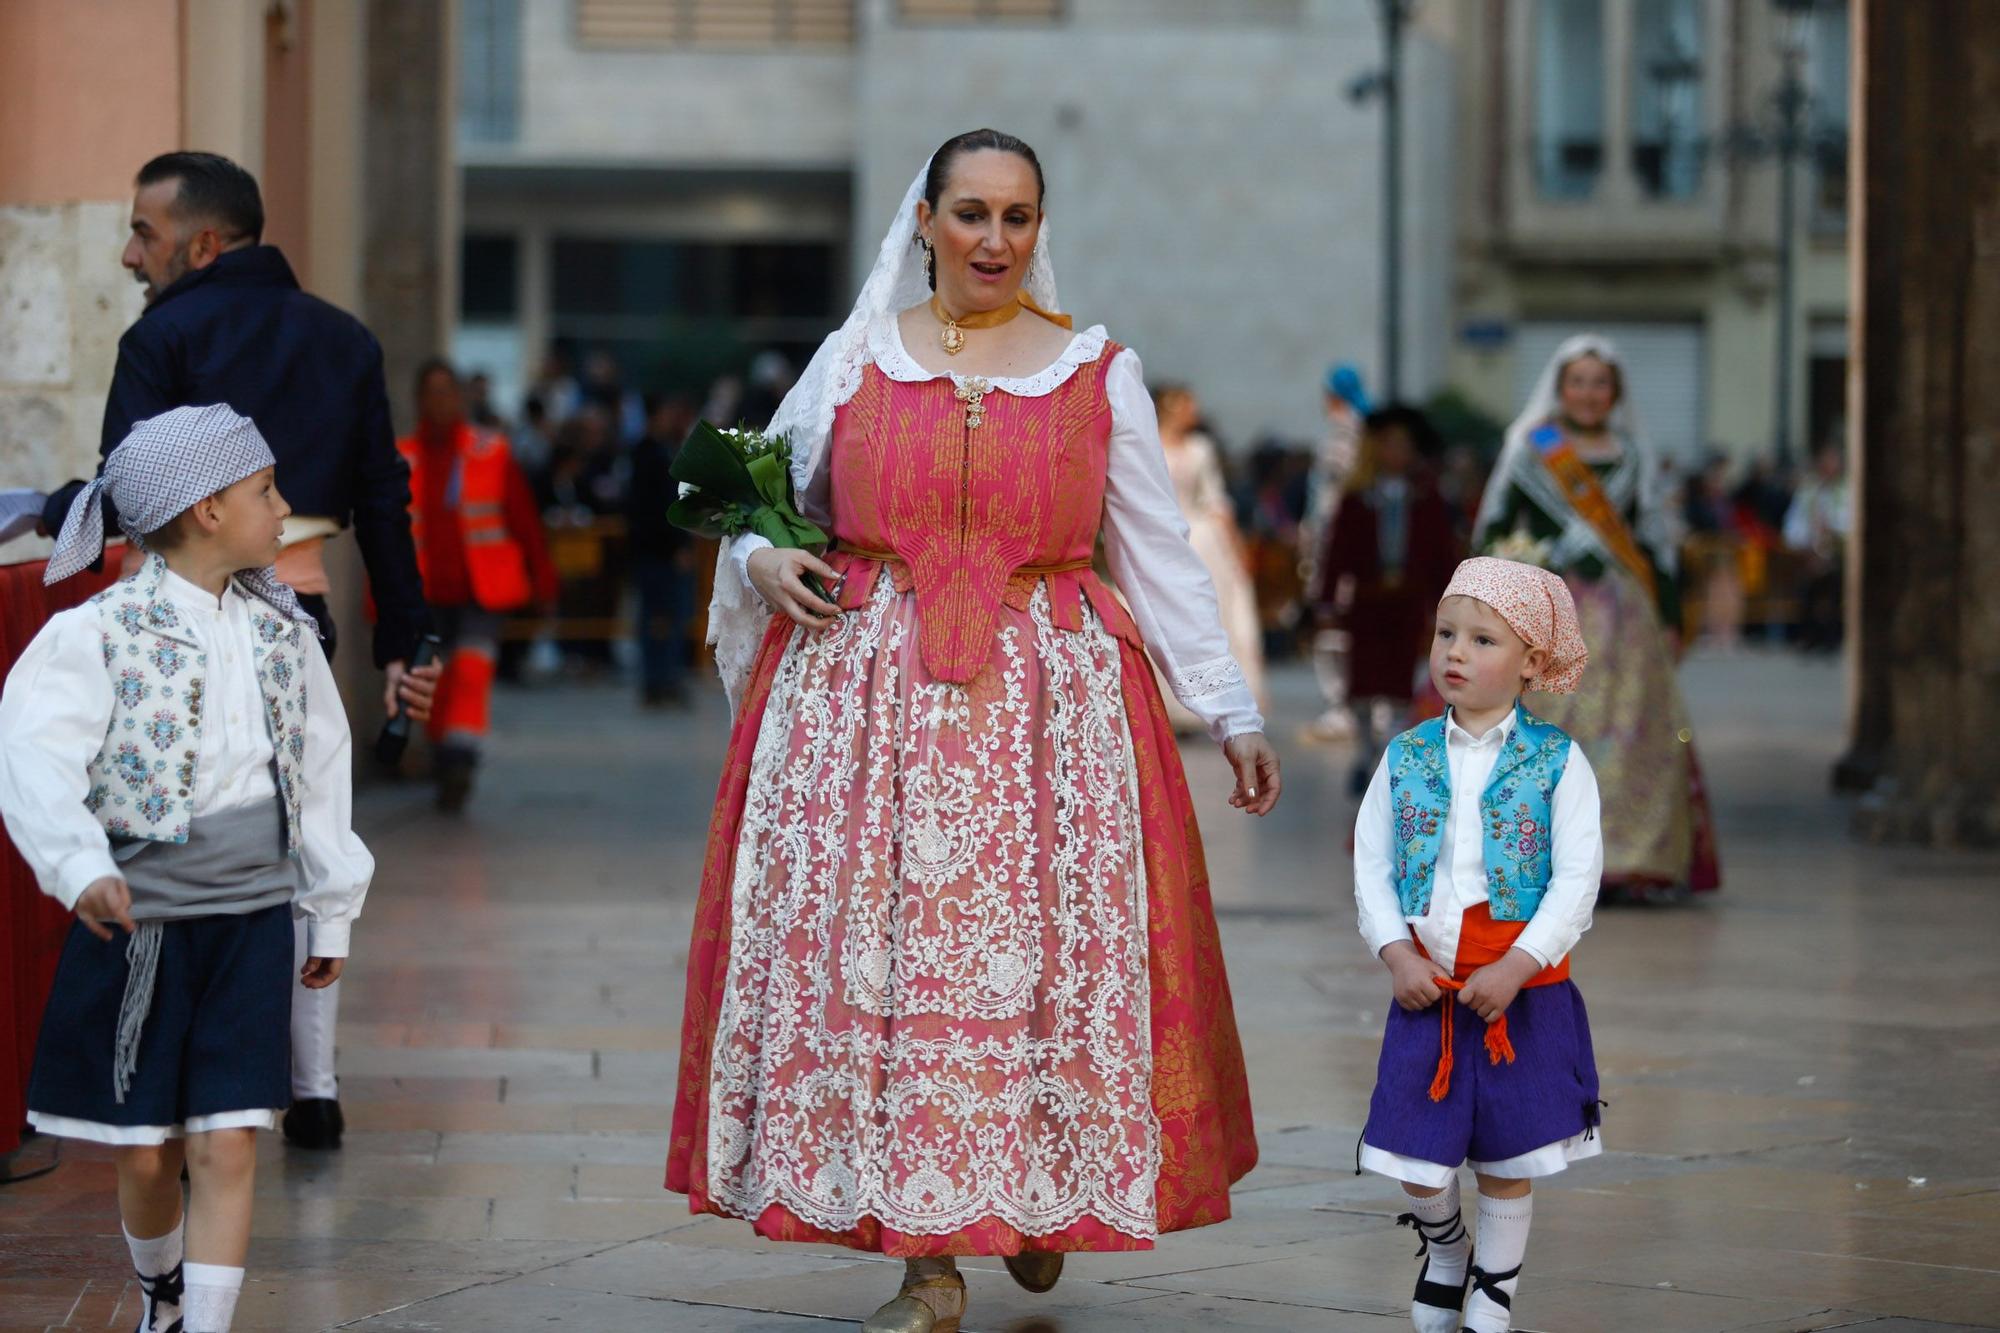
<path fill-rule="evenodd" d="M 1390 973 L 1358 1165 L 1402 1181 L 1424 1269 L 1418 1333 L 1502 1333 L 1532 1181 L 1602 1151 L 1598 1073 L 1570 949 L 1604 841 L 1584 753 L 1528 713 L 1588 650 L 1556 574 L 1466 560 L 1438 602 L 1430 679 L 1450 711 L 1390 743 L 1354 831 L 1354 899 Z M 1478 1179 L 1478 1235 L 1458 1169 Z"/>

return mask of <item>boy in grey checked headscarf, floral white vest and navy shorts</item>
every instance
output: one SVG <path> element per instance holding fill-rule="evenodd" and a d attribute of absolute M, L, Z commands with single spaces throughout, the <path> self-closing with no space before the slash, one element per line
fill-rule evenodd
<path fill-rule="evenodd" d="M 102 550 L 100 494 L 144 564 L 52 616 L 0 693 L 0 817 L 76 913 L 28 1121 L 116 1149 L 138 1331 L 220 1333 L 256 1131 L 292 1097 L 292 917 L 300 983 L 330 985 L 374 859 L 314 620 L 272 572 L 290 510 L 256 426 L 226 406 L 132 426 L 70 508 L 50 582 Z"/>

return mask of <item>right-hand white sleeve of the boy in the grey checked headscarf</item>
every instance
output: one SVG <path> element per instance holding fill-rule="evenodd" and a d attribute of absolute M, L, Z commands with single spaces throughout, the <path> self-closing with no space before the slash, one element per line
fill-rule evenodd
<path fill-rule="evenodd" d="M 306 953 L 348 957 L 348 933 L 362 915 L 374 857 L 354 835 L 354 759 L 348 713 L 326 654 L 308 648 L 306 761 L 298 811 L 298 861 L 304 889 L 292 913 L 306 919 Z"/>

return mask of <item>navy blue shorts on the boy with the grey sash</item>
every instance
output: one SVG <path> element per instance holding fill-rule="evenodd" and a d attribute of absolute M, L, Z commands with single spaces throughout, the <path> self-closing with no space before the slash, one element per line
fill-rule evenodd
<path fill-rule="evenodd" d="M 126 941 L 70 927 L 42 1015 L 30 1117 L 180 1127 L 190 1117 L 292 1103 L 292 907 L 166 921 L 152 1011 L 124 1103 L 112 1093 Z M 62 1133 L 60 1129 L 56 1133 Z M 98 1137 L 98 1135 L 84 1135 Z"/>

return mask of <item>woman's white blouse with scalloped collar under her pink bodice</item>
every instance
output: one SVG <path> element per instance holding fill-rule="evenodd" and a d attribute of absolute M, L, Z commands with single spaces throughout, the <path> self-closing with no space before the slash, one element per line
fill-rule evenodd
<path fill-rule="evenodd" d="M 988 376 L 996 392 L 1036 398 L 1052 392 L 1076 370 L 1104 352 L 1104 328 L 1088 328 L 1070 340 L 1070 348 L 1046 370 L 1006 378 Z M 868 330 L 868 350 L 882 374 L 902 382 L 946 378 L 930 372 L 902 344 L 894 316 L 876 320 Z M 1180 512 L 1174 480 L 1166 472 L 1166 446 L 1160 442 L 1160 420 L 1146 390 L 1146 372 L 1138 352 L 1124 348 L 1112 360 L 1104 378 L 1104 394 L 1112 408 L 1110 458 L 1104 476 L 1104 554 L 1138 624 L 1140 638 L 1152 650 L 1174 697 L 1198 717 L 1216 741 L 1264 731 L 1264 715 L 1242 669 L 1230 654 L 1230 640 L 1216 608 L 1216 584 L 1202 558 L 1188 544 L 1188 520 Z M 820 450 L 812 482 L 798 496 L 800 510 L 828 526 L 828 480 L 832 448 Z M 730 558 L 748 584 L 748 560 L 768 546 L 760 536 L 742 536 L 730 544 Z"/>

